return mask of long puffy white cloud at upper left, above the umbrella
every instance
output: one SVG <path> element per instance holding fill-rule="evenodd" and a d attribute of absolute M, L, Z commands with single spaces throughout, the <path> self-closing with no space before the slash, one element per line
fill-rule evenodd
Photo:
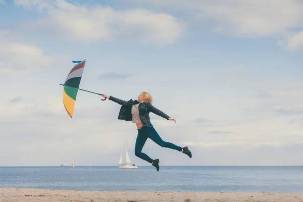
<path fill-rule="evenodd" d="M 26 24 L 28 35 L 37 34 L 66 41 L 104 41 L 120 38 L 143 43 L 173 43 L 183 25 L 176 17 L 145 9 L 114 10 L 102 6 L 75 6 L 64 0 L 15 1 L 16 6 L 46 11 L 47 17 Z"/>

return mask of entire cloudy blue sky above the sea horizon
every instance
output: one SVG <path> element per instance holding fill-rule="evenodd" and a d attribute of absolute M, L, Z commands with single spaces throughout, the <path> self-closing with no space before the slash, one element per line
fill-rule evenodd
<path fill-rule="evenodd" d="M 300 0 L 0 0 L 0 166 L 116 166 L 132 122 L 120 105 L 79 91 L 63 106 L 71 61 L 80 88 L 137 99 L 164 141 L 160 166 L 303 165 L 303 2 Z"/>

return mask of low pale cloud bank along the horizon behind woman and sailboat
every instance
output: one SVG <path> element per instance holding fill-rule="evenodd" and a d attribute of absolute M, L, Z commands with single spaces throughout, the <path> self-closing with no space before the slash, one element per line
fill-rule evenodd
<path fill-rule="evenodd" d="M 74 118 L 70 119 L 62 105 L 61 95 L 53 99 L 50 99 L 51 96 L 53 95 L 31 103 L 16 103 L 14 106 L 0 105 L 0 125 L 3 133 L 0 153 L 9 154 L 9 158 L 3 157 L 5 161 L 2 161 L 1 165 L 56 166 L 69 163 L 72 159 L 75 160 L 76 165 L 85 165 L 88 164 L 87 162 L 93 165 L 116 165 L 126 139 L 129 141 L 132 162 L 136 165 L 148 165 L 134 156 L 136 129 L 129 122 L 117 120 L 119 105 L 114 103 L 90 105 L 80 100 L 76 104 Z M 239 123 L 234 126 L 235 128 L 228 128 L 230 126 L 222 128 L 222 131 L 244 133 L 240 136 L 241 138 L 234 134 L 203 135 L 206 134 L 203 131 L 212 130 L 205 127 L 201 127 L 204 130 L 200 130 L 199 127 L 192 127 L 182 122 L 175 124 L 163 120 L 164 122 L 169 125 L 165 126 L 158 124 L 156 120 L 153 121 L 155 125 L 158 125 L 156 130 L 163 140 L 181 146 L 187 145 L 195 157 L 205 158 L 205 161 L 192 161 L 193 159 L 187 158 L 186 155 L 180 156 L 184 158 L 182 161 L 173 161 L 172 155 L 178 155 L 174 150 L 159 147 L 148 139 L 143 148 L 144 152 L 151 157 L 161 156 L 164 160 L 163 165 L 269 164 L 265 159 L 260 161 L 259 154 L 262 153 L 259 149 L 262 149 L 269 159 L 276 156 L 276 149 L 284 153 L 283 158 L 272 161 L 272 164 L 296 164 L 295 158 L 291 161 L 288 158 L 292 157 L 292 154 L 296 157 L 299 155 L 297 150 L 292 152 L 295 149 L 290 149 L 293 143 L 299 143 L 298 138 L 303 134 L 300 131 L 293 134 L 283 133 L 279 126 L 285 122 L 284 120 L 279 123 L 270 122 L 271 124 L 264 122 L 262 125 L 256 122 L 250 125 Z M 260 126 L 263 128 L 260 129 Z M 272 128 L 277 132 L 268 133 Z M 251 132 L 245 134 L 245 131 Z M 39 149 L 40 153 L 35 153 L 36 149 Z M 20 150 L 24 152 L 20 153 Z M 108 154 L 115 158 L 107 159 Z M 36 159 L 39 159 L 41 155 L 47 160 L 37 162 Z M 237 155 L 237 160 L 233 159 L 234 155 Z M 31 156 L 31 158 L 24 160 L 26 156 Z M 226 158 L 226 156 L 232 158 Z"/>

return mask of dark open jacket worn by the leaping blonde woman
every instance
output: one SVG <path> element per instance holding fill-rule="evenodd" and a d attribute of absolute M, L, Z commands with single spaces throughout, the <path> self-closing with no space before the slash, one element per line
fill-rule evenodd
<path fill-rule="evenodd" d="M 118 115 L 118 119 L 125 121 L 132 121 L 131 107 L 133 105 L 139 104 L 138 100 L 130 99 L 126 102 L 125 100 L 118 99 L 113 96 L 110 96 L 109 99 L 115 103 L 118 103 L 119 105 L 122 105 Z M 157 114 L 158 116 L 161 116 L 167 120 L 169 120 L 168 118 L 170 118 L 168 115 L 155 108 L 149 102 L 140 103 L 138 109 L 139 109 L 139 117 L 143 126 L 149 126 L 151 124 L 149 119 L 149 112 L 153 112 L 154 114 Z"/>

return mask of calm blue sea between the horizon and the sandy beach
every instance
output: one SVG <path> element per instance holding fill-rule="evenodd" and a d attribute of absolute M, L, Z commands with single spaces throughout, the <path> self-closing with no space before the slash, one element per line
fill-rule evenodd
<path fill-rule="evenodd" d="M 0 187 L 303 193 L 303 167 L 0 167 Z"/>

